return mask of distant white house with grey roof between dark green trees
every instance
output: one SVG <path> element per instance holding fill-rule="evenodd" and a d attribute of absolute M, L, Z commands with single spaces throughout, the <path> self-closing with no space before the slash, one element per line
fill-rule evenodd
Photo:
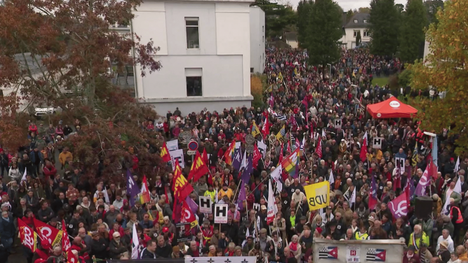
<path fill-rule="evenodd" d="M 371 34 L 369 31 L 369 14 L 358 13 L 353 15 L 351 20 L 344 26 L 344 35 L 340 41 L 345 49 L 353 49 L 356 47 L 356 37 L 358 32 L 361 32 L 361 43 L 369 43 Z"/>

